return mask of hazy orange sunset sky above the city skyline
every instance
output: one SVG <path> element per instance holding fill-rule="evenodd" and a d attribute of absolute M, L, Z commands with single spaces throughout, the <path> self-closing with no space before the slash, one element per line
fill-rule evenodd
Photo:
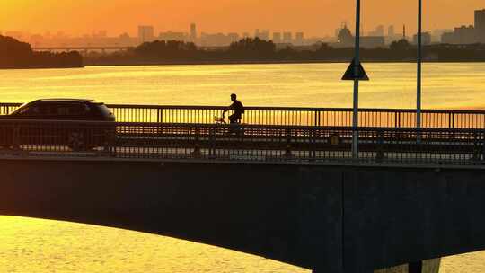
<path fill-rule="evenodd" d="M 416 29 L 417 0 L 362 0 L 365 31 L 378 24 L 406 23 Z M 473 23 L 473 11 L 484 0 L 423 0 L 424 28 L 452 28 Z M 106 30 L 109 35 L 138 24 L 155 31 L 304 31 L 306 36 L 333 34 L 340 23 L 353 28 L 355 0 L 0 0 L 0 31 L 65 31 L 73 34 Z"/>

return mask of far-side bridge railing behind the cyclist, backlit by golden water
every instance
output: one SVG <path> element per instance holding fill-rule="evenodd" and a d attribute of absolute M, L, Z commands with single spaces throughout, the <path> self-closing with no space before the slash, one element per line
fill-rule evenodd
<path fill-rule="evenodd" d="M 9 114 L 20 103 L 0 103 Z M 214 124 L 225 107 L 109 104 L 119 122 Z M 230 114 L 230 113 L 229 113 Z M 485 110 L 422 110 L 423 128 L 485 128 Z M 361 109 L 359 126 L 416 127 L 416 110 Z M 247 107 L 242 123 L 282 126 L 351 126 L 352 110 L 339 108 Z"/>

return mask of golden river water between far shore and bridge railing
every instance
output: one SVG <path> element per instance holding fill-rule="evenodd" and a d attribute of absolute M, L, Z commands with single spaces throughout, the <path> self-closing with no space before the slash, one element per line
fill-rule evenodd
<path fill-rule="evenodd" d="M 237 92 L 252 106 L 350 107 L 345 64 L 107 66 L 0 70 L 1 101 L 84 97 L 111 103 L 225 105 Z M 360 105 L 413 108 L 414 64 L 366 64 Z M 425 64 L 424 108 L 485 106 L 485 64 Z"/>

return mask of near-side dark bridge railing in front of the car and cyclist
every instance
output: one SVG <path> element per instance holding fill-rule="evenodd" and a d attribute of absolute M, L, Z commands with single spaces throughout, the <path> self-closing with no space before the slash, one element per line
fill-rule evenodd
<path fill-rule="evenodd" d="M 0 120 L 0 158 L 229 163 L 485 163 L 483 129 L 226 126 Z"/>

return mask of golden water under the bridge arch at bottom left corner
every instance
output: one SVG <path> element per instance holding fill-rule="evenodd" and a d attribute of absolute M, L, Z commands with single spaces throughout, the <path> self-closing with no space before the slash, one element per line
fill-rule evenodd
<path fill-rule="evenodd" d="M 116 228 L 0 216 L 0 272 L 308 272 L 274 260 Z"/>

